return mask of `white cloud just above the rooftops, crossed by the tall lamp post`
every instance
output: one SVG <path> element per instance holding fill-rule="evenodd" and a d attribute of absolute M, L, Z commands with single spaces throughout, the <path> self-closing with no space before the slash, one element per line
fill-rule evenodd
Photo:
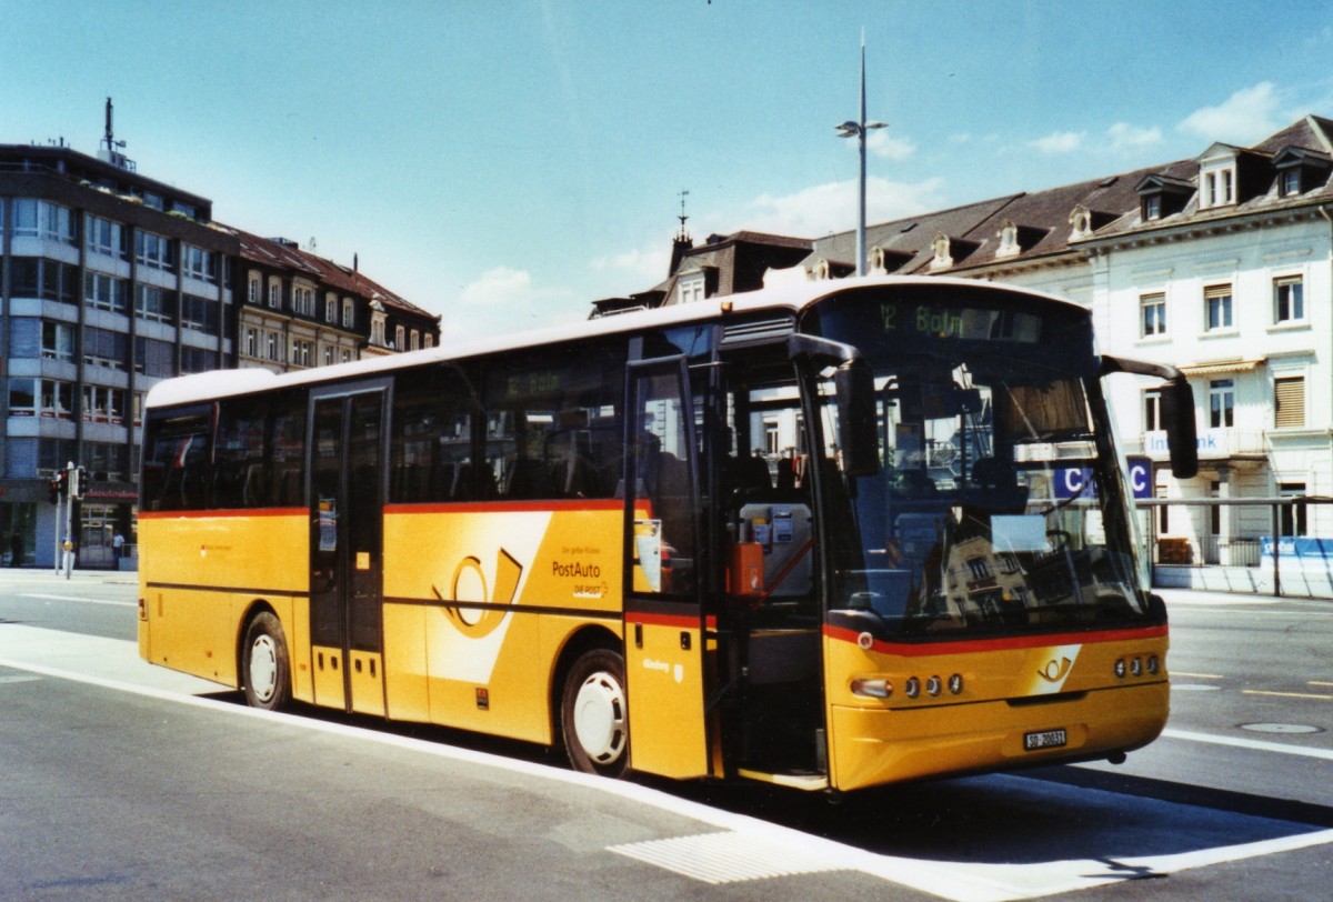
<path fill-rule="evenodd" d="M 865 183 L 866 221 L 882 223 L 936 209 L 941 203 L 940 185 L 938 179 L 902 183 L 872 176 Z M 830 181 L 782 197 L 756 197 L 742 212 L 742 228 L 816 238 L 856 228 L 856 180 Z"/>

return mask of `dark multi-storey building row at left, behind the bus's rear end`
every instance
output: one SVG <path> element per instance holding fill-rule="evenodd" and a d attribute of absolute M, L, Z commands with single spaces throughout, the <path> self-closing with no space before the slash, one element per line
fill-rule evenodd
<path fill-rule="evenodd" d="M 0 534 L 7 561 L 16 548 L 43 566 L 64 537 L 51 478 L 71 462 L 89 476 L 71 534 L 80 566 L 111 566 L 116 534 L 133 545 L 141 408 L 160 380 L 439 338 L 439 317 L 355 269 L 215 223 L 208 199 L 119 153 L 64 144 L 0 145 Z M 272 357 L 269 336 L 281 337 Z"/>

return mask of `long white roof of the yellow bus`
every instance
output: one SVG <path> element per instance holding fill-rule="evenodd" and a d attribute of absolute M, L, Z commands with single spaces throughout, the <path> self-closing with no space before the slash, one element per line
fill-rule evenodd
<path fill-rule="evenodd" d="M 207 373 L 192 373 L 168 378 L 155 385 L 148 392 L 145 406 L 164 408 L 181 404 L 212 401 L 215 398 L 233 394 L 249 394 L 268 389 L 288 386 L 313 385 L 331 382 L 343 378 L 371 377 L 381 373 L 392 373 L 399 369 L 420 366 L 432 361 L 467 360 L 501 350 L 516 350 L 523 348 L 537 348 L 543 345 L 560 345 L 597 336 L 612 336 L 644 329 L 660 329 L 685 322 L 716 321 L 722 317 L 736 317 L 745 313 L 761 310 L 789 310 L 798 313 L 816 301 L 830 294 L 840 294 L 856 288 L 873 286 L 909 286 L 934 285 L 954 286 L 966 290 L 1004 289 L 1014 294 L 1025 294 L 1034 300 L 1056 301 L 1069 306 L 1077 306 L 1070 301 L 1036 292 L 1028 288 L 1013 285 L 1000 285 L 994 282 L 981 282 L 973 278 L 953 278 L 941 276 L 877 276 L 862 278 L 838 278 L 821 281 L 800 281 L 773 288 L 764 288 L 756 292 L 740 294 L 720 294 L 704 301 L 689 304 L 673 304 L 651 310 L 636 310 L 632 313 L 617 313 L 615 316 L 596 320 L 577 320 L 557 326 L 531 329 L 507 336 L 495 336 L 475 341 L 440 344 L 424 350 L 388 354 L 369 360 L 357 360 L 347 364 L 333 364 L 331 366 L 316 366 L 291 373 L 273 373 L 268 369 L 220 369 Z"/>

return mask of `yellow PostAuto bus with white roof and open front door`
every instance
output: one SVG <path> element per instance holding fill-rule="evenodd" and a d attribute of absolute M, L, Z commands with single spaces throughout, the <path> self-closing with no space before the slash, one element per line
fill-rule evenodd
<path fill-rule="evenodd" d="M 1089 312 L 806 282 L 145 405 L 140 654 L 563 746 L 854 790 L 1122 759 L 1168 714 Z"/>

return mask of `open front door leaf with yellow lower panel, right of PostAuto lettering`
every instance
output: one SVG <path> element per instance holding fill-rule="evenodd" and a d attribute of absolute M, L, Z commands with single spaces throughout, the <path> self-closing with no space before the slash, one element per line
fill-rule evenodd
<path fill-rule="evenodd" d="M 710 773 L 710 648 L 696 570 L 698 445 L 684 357 L 631 364 L 625 441 L 625 683 L 635 770 Z"/>

